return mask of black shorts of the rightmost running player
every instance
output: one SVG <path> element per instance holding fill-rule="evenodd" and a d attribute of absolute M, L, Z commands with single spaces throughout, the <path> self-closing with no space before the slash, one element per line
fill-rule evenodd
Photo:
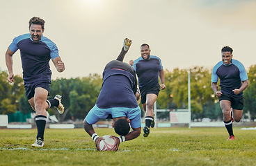
<path fill-rule="evenodd" d="M 232 109 L 243 110 L 243 97 L 235 98 L 232 95 L 223 95 L 222 94 L 221 97 L 218 99 L 220 101 L 221 100 L 230 101 Z"/>

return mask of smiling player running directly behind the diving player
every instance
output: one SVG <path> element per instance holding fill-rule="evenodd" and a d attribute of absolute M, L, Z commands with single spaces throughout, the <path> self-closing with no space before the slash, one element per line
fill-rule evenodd
<path fill-rule="evenodd" d="M 154 127 L 154 102 L 159 94 L 159 77 L 161 89 L 166 89 L 164 84 L 164 73 L 161 59 L 150 55 L 150 46 L 141 45 L 141 57 L 135 61 L 130 60 L 129 64 L 133 66 L 138 75 L 138 86 L 141 91 L 141 104 L 145 111 L 145 127 L 143 129 L 144 137 L 150 134 L 150 127 Z"/>

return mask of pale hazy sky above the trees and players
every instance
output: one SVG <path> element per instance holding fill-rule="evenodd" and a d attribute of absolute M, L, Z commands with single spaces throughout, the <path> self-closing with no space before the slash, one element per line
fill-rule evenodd
<path fill-rule="evenodd" d="M 29 19 L 45 19 L 45 37 L 58 46 L 66 70 L 53 78 L 102 74 L 115 59 L 125 37 L 132 40 L 125 62 L 150 45 L 163 69 L 205 66 L 221 60 L 231 46 L 246 69 L 256 64 L 256 1 L 253 0 L 0 0 L 0 67 L 14 37 L 29 33 Z M 14 73 L 21 74 L 19 51 Z"/>

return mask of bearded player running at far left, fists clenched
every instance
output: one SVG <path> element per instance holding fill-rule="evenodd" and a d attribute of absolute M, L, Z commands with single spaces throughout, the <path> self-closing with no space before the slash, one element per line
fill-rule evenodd
<path fill-rule="evenodd" d="M 45 21 L 39 17 L 29 20 L 29 33 L 13 39 L 6 51 L 6 66 L 8 68 L 8 81 L 13 82 L 13 54 L 19 49 L 22 58 L 23 80 L 26 97 L 33 110 L 35 110 L 35 122 L 38 128 L 38 136 L 32 147 L 44 146 L 46 110 L 56 107 L 59 113 L 64 112 L 61 104 L 61 95 L 47 100 L 51 86 L 51 70 L 49 60 L 54 62 L 58 72 L 65 70 L 65 65 L 58 55 L 58 48 L 54 42 L 43 36 Z"/>

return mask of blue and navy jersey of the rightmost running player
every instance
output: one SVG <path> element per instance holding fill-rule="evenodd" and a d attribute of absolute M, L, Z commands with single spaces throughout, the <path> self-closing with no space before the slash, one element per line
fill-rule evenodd
<path fill-rule="evenodd" d="M 218 62 L 212 69 L 211 82 L 218 82 L 220 78 L 221 92 L 227 93 L 234 97 L 241 97 L 243 93 L 235 95 L 232 90 L 239 89 L 241 82 L 248 80 L 246 68 L 243 64 L 236 59 L 232 59 L 231 64 L 223 64 L 222 61 Z"/>

